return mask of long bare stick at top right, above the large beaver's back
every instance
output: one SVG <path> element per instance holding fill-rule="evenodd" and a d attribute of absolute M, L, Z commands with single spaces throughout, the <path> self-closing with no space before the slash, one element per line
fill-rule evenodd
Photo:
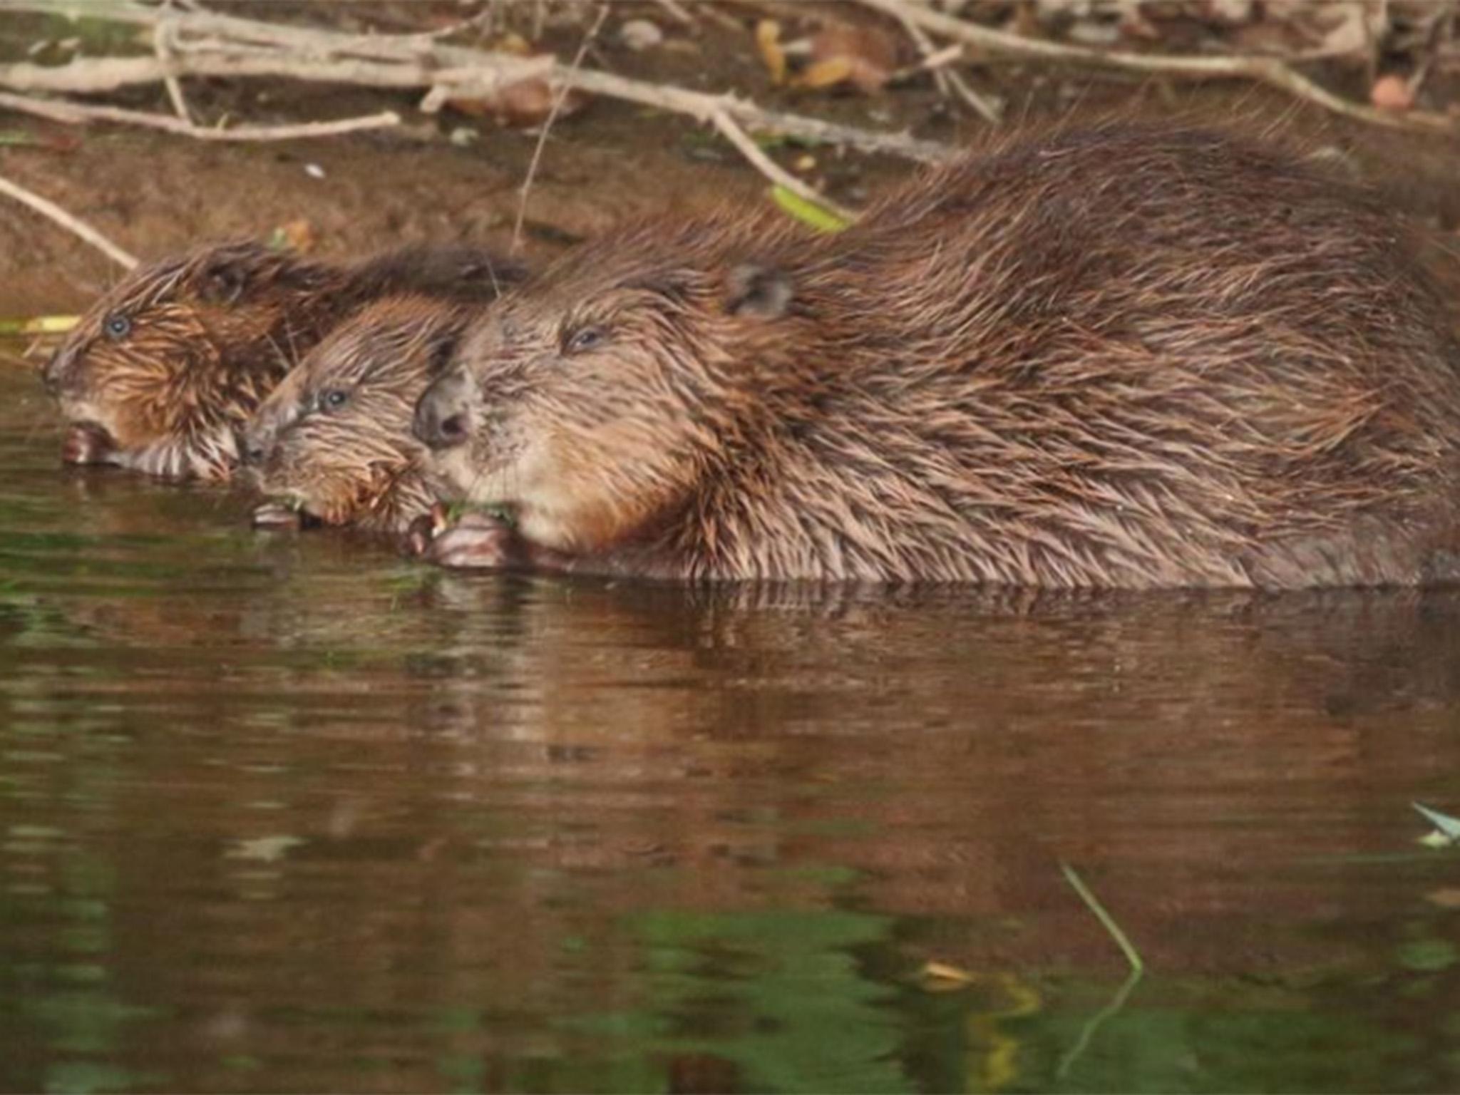
<path fill-rule="evenodd" d="M 1375 126 L 1444 131 L 1454 131 L 1456 128 L 1454 123 L 1444 114 L 1431 114 L 1426 111 L 1400 114 L 1350 102 L 1314 83 L 1276 57 L 1180 57 L 1171 54 L 1124 53 L 1118 50 L 1091 50 L 1083 45 L 1047 42 L 1038 38 L 1009 34 L 1007 31 L 996 31 L 990 26 L 980 26 L 967 19 L 956 19 L 942 12 L 908 3 L 908 0 L 858 0 L 858 3 L 889 15 L 894 19 L 917 23 L 931 34 L 952 38 L 953 41 L 990 53 L 1050 61 L 1098 64 L 1108 69 L 1130 69 L 1134 72 L 1165 73 L 1168 76 L 1193 79 L 1248 79 L 1278 88 L 1299 99 L 1314 102 L 1334 114 L 1359 118 Z"/>

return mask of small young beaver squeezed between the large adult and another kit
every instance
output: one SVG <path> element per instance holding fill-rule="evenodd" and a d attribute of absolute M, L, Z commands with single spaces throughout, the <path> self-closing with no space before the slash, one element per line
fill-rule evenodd
<path fill-rule="evenodd" d="M 336 327 L 254 412 L 241 437 L 264 504 L 256 524 L 298 515 L 404 531 L 442 498 L 422 470 L 410 416 L 469 312 L 425 296 L 378 301 Z"/>

